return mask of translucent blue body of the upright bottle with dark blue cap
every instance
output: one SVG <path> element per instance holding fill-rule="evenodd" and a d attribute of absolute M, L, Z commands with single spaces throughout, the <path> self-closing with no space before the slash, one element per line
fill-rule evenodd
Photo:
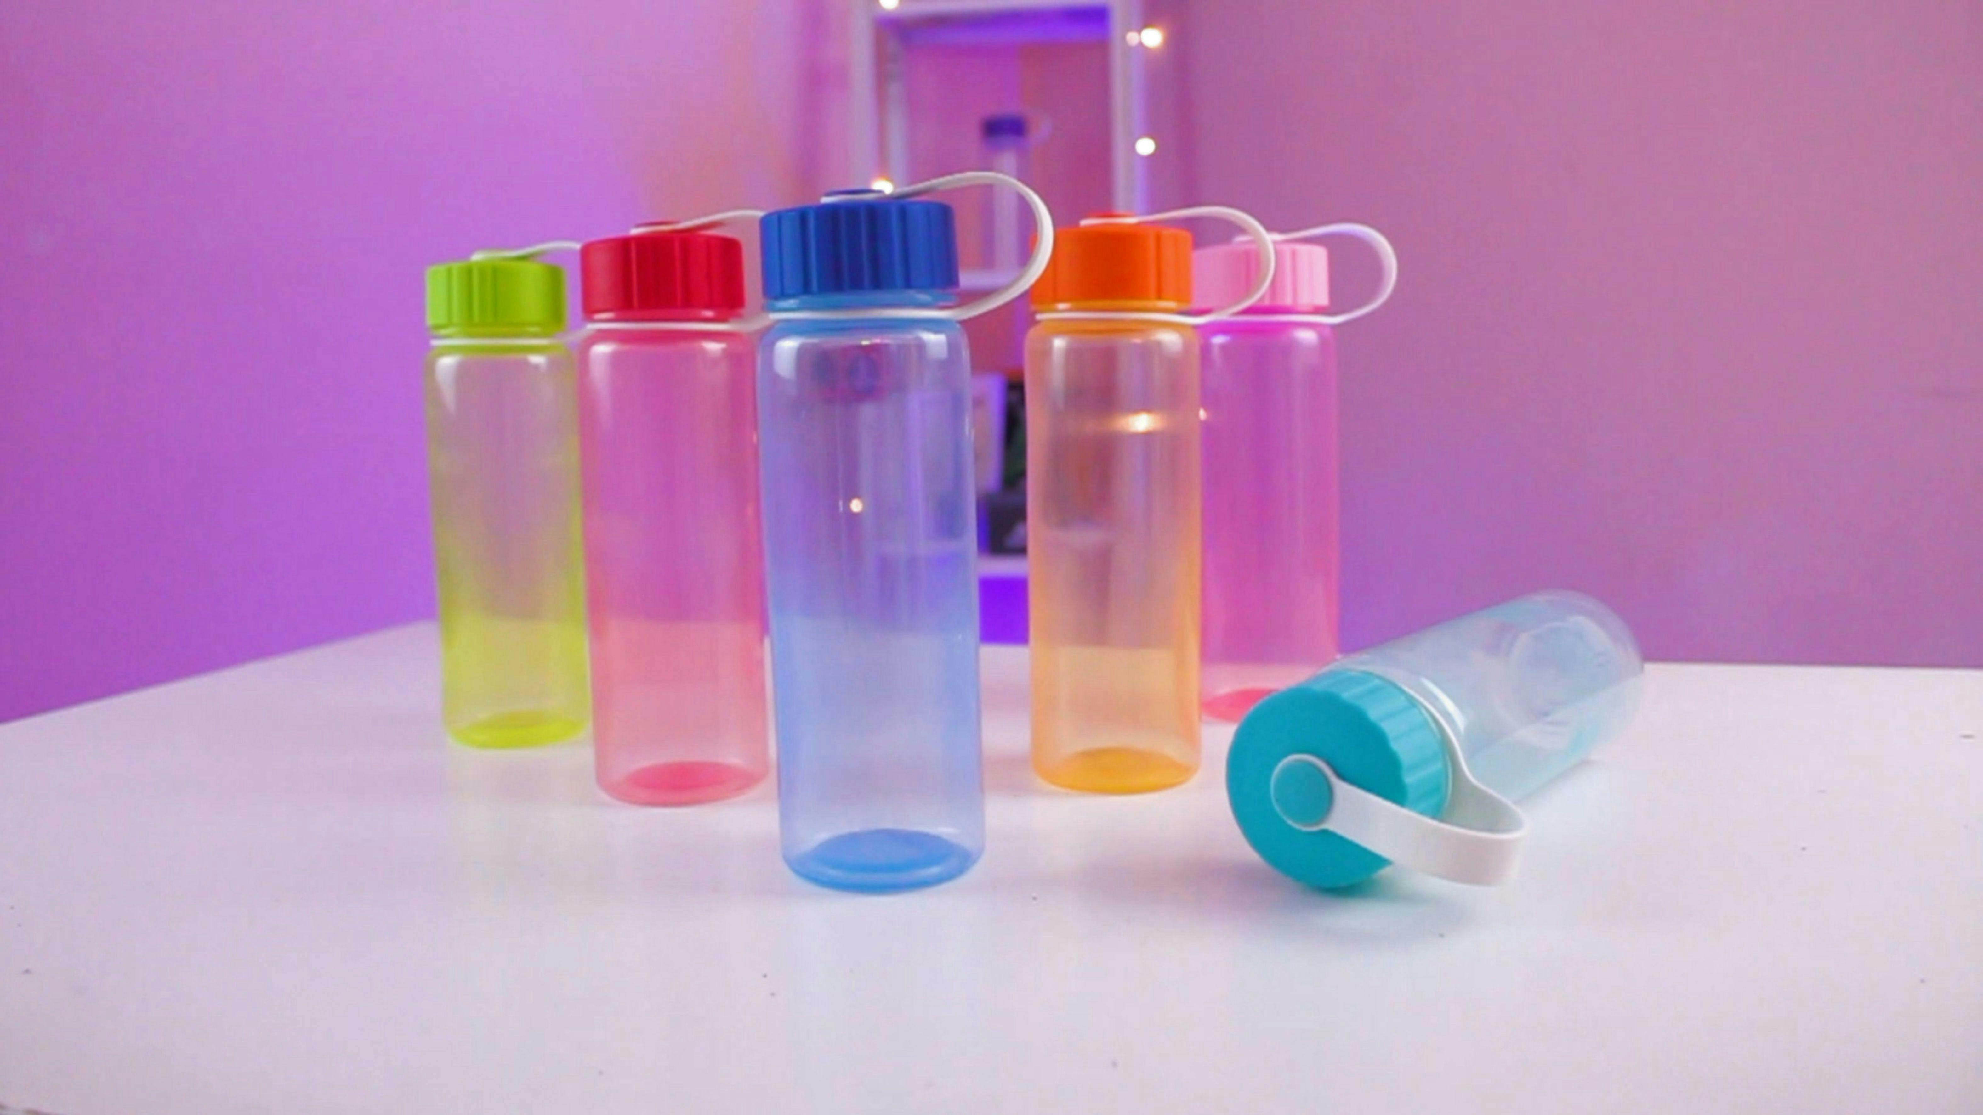
<path fill-rule="evenodd" d="M 779 836 L 823 885 L 940 883 L 984 852 L 970 404 L 954 323 L 791 321 L 759 345 Z"/>

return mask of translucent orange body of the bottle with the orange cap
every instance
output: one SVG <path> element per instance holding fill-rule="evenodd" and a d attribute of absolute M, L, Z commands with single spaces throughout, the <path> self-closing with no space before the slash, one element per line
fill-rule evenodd
<path fill-rule="evenodd" d="M 1162 790 L 1198 770 L 1198 337 L 1047 321 L 1027 335 L 1033 768 Z"/>

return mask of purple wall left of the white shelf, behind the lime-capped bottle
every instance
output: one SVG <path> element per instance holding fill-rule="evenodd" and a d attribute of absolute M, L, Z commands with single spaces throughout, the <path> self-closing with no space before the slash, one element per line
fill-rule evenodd
<path fill-rule="evenodd" d="M 0 719 L 430 614 L 420 269 L 791 198 L 797 8 L 0 4 Z"/>

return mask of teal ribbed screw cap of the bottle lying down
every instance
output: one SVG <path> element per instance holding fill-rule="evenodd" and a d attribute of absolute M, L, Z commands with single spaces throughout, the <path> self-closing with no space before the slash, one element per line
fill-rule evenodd
<path fill-rule="evenodd" d="M 1321 759 L 1344 782 L 1412 812 L 1446 808 L 1452 770 L 1446 739 L 1426 709 L 1394 681 L 1358 669 L 1325 669 L 1267 697 L 1239 721 L 1225 755 L 1225 796 L 1253 852 L 1273 869 L 1339 889 L 1376 875 L 1390 860 L 1329 830 L 1329 778 L 1291 755 Z"/>

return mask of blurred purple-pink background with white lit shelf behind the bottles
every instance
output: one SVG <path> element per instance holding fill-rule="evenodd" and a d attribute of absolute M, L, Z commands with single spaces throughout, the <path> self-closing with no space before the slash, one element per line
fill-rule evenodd
<path fill-rule="evenodd" d="M 1650 658 L 1983 665 L 1977 4 L 918 2 L 0 4 L 0 719 L 432 616 L 424 265 L 984 166 L 995 115 L 1063 222 L 1396 242 L 1346 648 L 1567 586 Z"/>

